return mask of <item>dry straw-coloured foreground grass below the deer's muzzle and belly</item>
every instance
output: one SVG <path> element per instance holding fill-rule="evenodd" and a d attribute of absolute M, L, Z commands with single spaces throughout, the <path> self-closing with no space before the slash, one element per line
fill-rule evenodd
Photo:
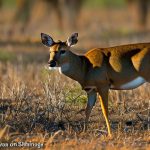
<path fill-rule="evenodd" d="M 148 84 L 136 90 L 110 92 L 113 137 L 108 138 L 98 101 L 88 131 L 82 132 L 84 112 L 77 112 L 85 107 L 86 94 L 57 71 L 48 71 L 38 63 L 1 63 L 0 77 L 1 143 L 32 142 L 37 144 L 30 145 L 32 149 L 44 144 L 45 149 L 58 150 L 150 147 Z"/>

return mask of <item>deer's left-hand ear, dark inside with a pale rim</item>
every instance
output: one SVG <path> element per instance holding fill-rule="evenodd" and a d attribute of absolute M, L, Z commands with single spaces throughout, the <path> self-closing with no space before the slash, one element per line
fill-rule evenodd
<path fill-rule="evenodd" d="M 45 33 L 41 33 L 41 40 L 42 40 L 42 43 L 48 47 L 52 46 L 55 43 L 52 37 L 50 37 L 49 35 Z"/>

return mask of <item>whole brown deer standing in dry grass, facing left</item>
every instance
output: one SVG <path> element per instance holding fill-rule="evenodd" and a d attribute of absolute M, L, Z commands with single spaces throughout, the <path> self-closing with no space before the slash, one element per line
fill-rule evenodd
<path fill-rule="evenodd" d="M 78 33 L 73 33 L 66 41 L 57 42 L 50 35 L 41 33 L 41 41 L 49 47 L 49 67 L 59 67 L 62 74 L 77 81 L 86 91 L 86 128 L 98 97 L 108 135 L 111 136 L 109 90 L 131 90 L 150 82 L 150 43 L 93 48 L 84 55 L 78 55 L 71 51 L 78 42 Z"/>

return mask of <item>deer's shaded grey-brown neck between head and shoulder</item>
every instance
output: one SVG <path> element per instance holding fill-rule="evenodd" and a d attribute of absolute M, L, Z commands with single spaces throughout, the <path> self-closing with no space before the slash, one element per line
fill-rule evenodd
<path fill-rule="evenodd" d="M 60 65 L 60 72 L 82 84 L 86 73 L 83 68 L 85 63 L 80 56 L 70 52 L 68 61 Z"/>

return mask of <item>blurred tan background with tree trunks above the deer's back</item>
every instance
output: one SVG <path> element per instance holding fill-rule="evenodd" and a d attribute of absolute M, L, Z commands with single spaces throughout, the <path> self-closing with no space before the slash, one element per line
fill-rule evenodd
<path fill-rule="evenodd" d="M 85 49 L 146 42 L 149 12 L 150 0 L 0 0 L 0 43 L 34 44 L 41 32 L 56 40 L 78 32 Z"/>

